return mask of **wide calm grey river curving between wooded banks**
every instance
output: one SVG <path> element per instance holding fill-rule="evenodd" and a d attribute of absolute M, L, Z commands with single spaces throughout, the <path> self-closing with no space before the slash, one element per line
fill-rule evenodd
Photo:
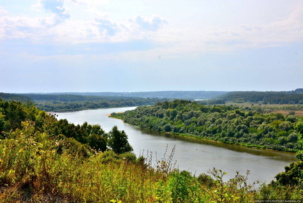
<path fill-rule="evenodd" d="M 209 169 L 215 167 L 228 172 L 224 180 L 233 178 L 236 171 L 245 175 L 250 170 L 248 181 L 270 182 L 275 175 L 284 171 L 284 167 L 289 163 L 297 161 L 295 153 L 262 150 L 249 147 L 241 147 L 232 144 L 224 144 L 195 138 L 186 138 L 168 133 L 156 132 L 136 126 L 123 123 L 119 119 L 108 118 L 108 113 L 123 112 L 135 109 L 136 107 L 93 109 L 75 112 L 58 113 L 58 119 L 67 119 L 68 122 L 75 125 L 82 125 L 85 121 L 89 124 L 99 124 L 108 132 L 114 125 L 119 130 L 124 130 L 128 135 L 128 141 L 138 157 L 142 155 L 147 157 L 147 151 L 152 152 L 152 161 L 156 162 L 156 153 L 158 160 L 163 158 L 166 147 L 168 151 L 165 156 L 167 159 L 175 146 L 173 160 L 179 170 L 187 170 L 198 176 L 201 173 L 207 173 Z M 150 155 L 150 153 L 149 153 Z"/>

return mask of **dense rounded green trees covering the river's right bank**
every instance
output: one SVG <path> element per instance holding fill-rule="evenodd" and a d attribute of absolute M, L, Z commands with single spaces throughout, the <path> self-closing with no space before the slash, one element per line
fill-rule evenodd
<path fill-rule="evenodd" d="M 260 106 L 205 106 L 189 100 L 174 100 L 112 116 L 156 131 L 248 147 L 297 151 L 298 133 L 294 125 L 298 116 L 294 111 L 286 116 L 268 111 L 270 109 Z"/>

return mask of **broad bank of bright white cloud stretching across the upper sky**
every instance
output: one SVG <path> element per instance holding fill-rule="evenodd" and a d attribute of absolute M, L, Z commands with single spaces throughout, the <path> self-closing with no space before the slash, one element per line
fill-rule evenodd
<path fill-rule="evenodd" d="M 94 14 L 90 21 L 71 20 L 65 2 L 90 5 L 83 9 Z M 232 51 L 245 47 L 284 46 L 303 42 L 303 6 L 298 6 L 287 19 L 269 24 L 240 24 L 230 27 L 193 27 L 169 29 L 168 20 L 159 15 L 144 17 L 137 14 L 117 22 L 108 12 L 99 11 L 93 5 L 99 1 L 39 0 L 32 9 L 44 8 L 51 17 L 8 17 L 8 11 L 0 7 L 0 40 L 28 38 L 36 43 L 117 43 L 132 40 L 148 40 L 159 48 L 148 55 L 163 52 L 177 56 L 204 51 Z M 102 1 L 99 3 L 107 3 Z M 45 38 L 47 37 L 47 41 Z M 160 51 L 161 50 L 161 51 Z M 137 53 L 134 54 L 134 56 Z M 127 56 L 127 54 L 123 54 Z"/>

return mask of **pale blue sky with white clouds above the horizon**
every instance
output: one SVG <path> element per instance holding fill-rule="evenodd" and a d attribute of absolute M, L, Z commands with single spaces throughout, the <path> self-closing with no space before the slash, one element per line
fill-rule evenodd
<path fill-rule="evenodd" d="M 302 0 L 0 0 L 0 92 L 303 88 Z"/>

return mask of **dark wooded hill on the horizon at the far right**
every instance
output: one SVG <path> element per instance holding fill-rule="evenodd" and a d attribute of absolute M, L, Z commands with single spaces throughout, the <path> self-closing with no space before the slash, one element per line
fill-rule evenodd
<path fill-rule="evenodd" d="M 296 89 L 294 91 L 281 91 L 281 92 L 229 92 L 223 95 L 224 101 L 243 103 L 270 103 L 270 104 L 303 104 L 303 89 Z"/>

